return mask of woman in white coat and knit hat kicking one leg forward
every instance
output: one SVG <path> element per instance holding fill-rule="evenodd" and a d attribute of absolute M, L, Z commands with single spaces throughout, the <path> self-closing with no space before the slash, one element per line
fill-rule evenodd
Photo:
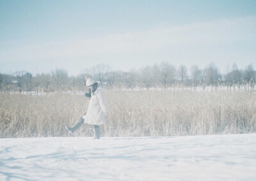
<path fill-rule="evenodd" d="M 75 125 L 72 127 L 66 125 L 65 127 L 71 134 L 73 134 L 73 132 L 81 127 L 83 123 L 88 123 L 93 125 L 95 132 L 94 139 L 100 139 L 99 125 L 106 123 L 106 114 L 108 112 L 106 100 L 99 82 L 86 78 L 86 86 L 89 87 L 89 90 L 92 90 L 92 92 L 89 91 L 89 93 L 86 93 L 86 97 L 90 99 L 87 111 L 81 115 Z"/>

